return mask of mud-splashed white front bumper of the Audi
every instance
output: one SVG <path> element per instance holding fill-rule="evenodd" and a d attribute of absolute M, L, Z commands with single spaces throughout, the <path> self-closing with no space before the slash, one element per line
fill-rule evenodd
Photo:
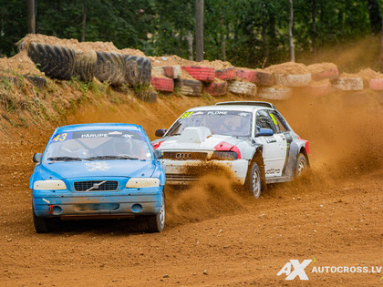
<path fill-rule="evenodd" d="M 165 168 L 166 184 L 170 185 L 190 184 L 193 181 L 199 180 L 199 176 L 192 174 L 188 169 L 203 166 L 205 164 L 212 164 L 231 170 L 233 172 L 235 182 L 244 184 L 249 165 L 249 161 L 247 159 L 209 161 L 198 159 L 162 159 L 162 163 Z"/>

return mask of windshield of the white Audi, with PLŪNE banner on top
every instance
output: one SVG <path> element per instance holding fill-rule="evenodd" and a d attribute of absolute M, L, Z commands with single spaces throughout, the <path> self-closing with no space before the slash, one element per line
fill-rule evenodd
<path fill-rule="evenodd" d="M 181 135 L 185 128 L 206 127 L 212 134 L 251 137 L 252 113 L 233 110 L 202 110 L 184 113 L 168 132 L 168 136 Z"/>

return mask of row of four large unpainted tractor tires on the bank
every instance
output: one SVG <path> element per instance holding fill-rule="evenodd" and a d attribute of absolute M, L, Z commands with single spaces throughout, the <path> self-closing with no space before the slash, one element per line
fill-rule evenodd
<path fill-rule="evenodd" d="M 27 54 L 47 77 L 69 80 L 78 77 L 90 82 L 93 77 L 111 86 L 140 87 L 150 85 L 151 63 L 145 56 L 118 53 L 77 51 L 70 47 L 30 43 Z"/>

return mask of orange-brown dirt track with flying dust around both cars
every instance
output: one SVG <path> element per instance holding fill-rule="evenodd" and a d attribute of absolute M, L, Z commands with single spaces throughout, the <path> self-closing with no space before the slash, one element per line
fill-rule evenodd
<path fill-rule="evenodd" d="M 309 283 L 381 285 L 383 272 L 311 273 L 314 266 L 383 265 L 382 107 L 376 95 L 328 98 L 275 103 L 310 139 L 312 174 L 271 186 L 260 200 L 211 176 L 181 196 L 169 190 L 168 225 L 160 234 L 129 220 L 65 222 L 53 233 L 36 234 L 28 179 L 32 155 L 44 149 L 51 130 L 19 130 L 23 138 L 0 147 L 0 285 L 301 284 L 276 273 L 290 259 L 313 256 L 316 262 L 305 269 Z M 163 99 L 110 107 L 109 117 L 99 105 L 68 122 L 134 122 L 152 135 L 201 104 Z"/>

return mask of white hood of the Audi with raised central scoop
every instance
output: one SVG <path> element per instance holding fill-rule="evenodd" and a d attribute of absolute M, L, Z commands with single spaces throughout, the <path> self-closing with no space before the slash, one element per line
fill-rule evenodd
<path fill-rule="evenodd" d="M 243 138 L 234 138 L 231 136 L 212 135 L 210 132 L 203 130 L 203 128 L 194 128 L 194 130 L 190 129 L 187 132 L 185 131 L 179 136 L 166 138 L 160 143 L 159 149 L 162 151 L 214 150 L 214 148 L 221 142 L 227 142 L 236 146 L 244 140 Z"/>

